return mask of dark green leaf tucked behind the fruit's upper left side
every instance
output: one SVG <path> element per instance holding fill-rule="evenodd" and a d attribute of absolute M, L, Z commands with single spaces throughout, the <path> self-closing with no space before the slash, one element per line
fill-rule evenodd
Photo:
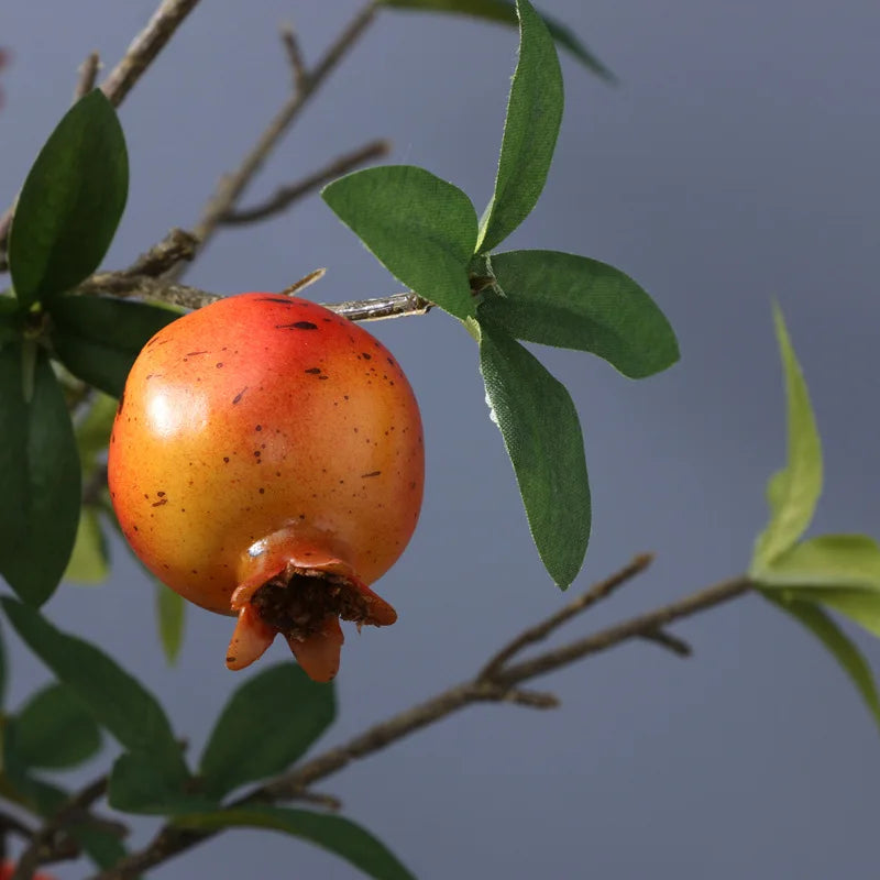
<path fill-rule="evenodd" d="M 113 397 L 122 394 L 141 349 L 180 317 L 146 302 L 92 296 L 59 297 L 50 309 L 52 343 L 62 363 Z"/>

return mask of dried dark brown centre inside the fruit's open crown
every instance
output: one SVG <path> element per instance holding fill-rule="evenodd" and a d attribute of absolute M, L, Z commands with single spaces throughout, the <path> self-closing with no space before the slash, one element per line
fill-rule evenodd
<path fill-rule="evenodd" d="M 359 624 L 371 617 L 370 603 L 355 586 L 324 572 L 283 572 L 254 593 L 251 605 L 265 624 L 299 639 L 319 632 L 330 616 Z"/>

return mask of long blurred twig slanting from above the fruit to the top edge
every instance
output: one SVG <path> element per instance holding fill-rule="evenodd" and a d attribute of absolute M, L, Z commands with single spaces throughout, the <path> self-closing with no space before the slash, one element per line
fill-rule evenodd
<path fill-rule="evenodd" d="M 323 57 L 309 72 L 304 87 L 284 102 L 266 129 L 257 139 L 251 151 L 242 160 L 239 167 L 231 174 L 224 175 L 213 195 L 208 200 L 202 211 L 201 219 L 196 227 L 200 249 L 205 248 L 213 235 L 221 218 L 226 217 L 238 204 L 239 197 L 251 183 L 256 173 L 263 167 L 270 153 L 280 140 L 282 135 L 297 119 L 308 100 L 315 95 L 328 75 L 337 67 L 342 58 L 355 45 L 361 35 L 366 31 L 376 14 L 377 0 L 370 0 L 352 19 L 337 40 L 330 45 Z M 180 267 L 173 270 L 172 277 L 178 277 Z"/>

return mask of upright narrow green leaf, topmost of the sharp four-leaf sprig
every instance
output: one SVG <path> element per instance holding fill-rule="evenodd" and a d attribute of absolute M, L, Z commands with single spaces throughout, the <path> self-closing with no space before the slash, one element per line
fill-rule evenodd
<path fill-rule="evenodd" d="M 519 63 L 510 86 L 495 193 L 476 250 L 491 251 L 531 212 L 553 161 L 562 123 L 562 72 L 553 41 L 528 0 L 518 0 Z"/>

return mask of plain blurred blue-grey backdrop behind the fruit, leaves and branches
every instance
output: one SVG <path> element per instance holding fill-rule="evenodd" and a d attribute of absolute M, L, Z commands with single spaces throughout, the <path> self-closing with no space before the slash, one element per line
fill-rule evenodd
<path fill-rule="evenodd" d="M 15 195 L 67 108 L 90 50 L 108 66 L 153 0 L 6 0 L 0 43 L 0 201 Z M 817 531 L 880 535 L 877 414 L 877 34 L 872 0 L 543 0 L 618 75 L 609 87 L 563 54 L 557 161 L 512 248 L 572 251 L 625 270 L 675 328 L 682 361 L 634 383 L 583 354 L 539 354 L 575 398 L 594 498 L 572 591 L 653 550 L 650 572 L 569 635 L 647 610 L 748 563 L 763 485 L 782 462 L 783 398 L 771 302 L 781 304 L 823 436 Z M 315 59 L 354 0 L 202 3 L 121 108 L 127 213 L 108 266 L 191 224 L 289 88 L 276 35 L 293 21 Z M 302 114 L 244 204 L 376 136 L 488 199 L 516 31 L 385 12 Z M 397 283 L 319 198 L 221 233 L 187 279 L 275 290 L 316 266 L 326 301 Z M 428 448 L 418 531 L 380 591 L 400 613 L 348 636 L 341 711 L 324 745 L 470 676 L 503 641 L 559 607 L 513 472 L 487 418 L 472 340 L 442 314 L 371 328 L 407 371 Z M 100 587 L 46 606 L 154 689 L 197 751 L 242 681 L 228 618 L 188 617 L 163 660 L 153 586 L 113 544 Z M 630 644 L 540 682 L 557 712 L 475 707 L 327 780 L 420 878 L 824 880 L 876 870 L 880 741 L 855 691 L 810 636 L 757 597 L 684 622 L 681 660 Z M 850 630 L 851 631 L 851 630 Z M 7 630 L 14 706 L 47 678 Z M 876 642 L 855 632 L 868 656 Z M 263 662 L 285 658 L 276 646 Z M 248 673 L 243 673 L 248 674 Z M 279 707 L 282 711 L 283 707 Z M 296 707 L 289 707 L 295 711 Z M 253 744 L 260 748 L 258 743 Z M 98 766 L 77 779 L 90 779 Z M 133 843 L 156 823 L 135 822 Z M 59 867 L 62 878 L 82 865 Z M 271 833 L 231 832 L 163 866 L 167 880 L 349 878 L 343 862 Z"/>

